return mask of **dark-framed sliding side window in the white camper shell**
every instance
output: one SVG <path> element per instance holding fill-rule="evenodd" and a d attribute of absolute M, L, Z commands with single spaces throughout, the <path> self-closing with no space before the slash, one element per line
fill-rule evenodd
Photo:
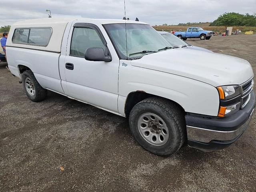
<path fill-rule="evenodd" d="M 47 46 L 52 28 L 19 28 L 14 30 L 13 43 Z"/>

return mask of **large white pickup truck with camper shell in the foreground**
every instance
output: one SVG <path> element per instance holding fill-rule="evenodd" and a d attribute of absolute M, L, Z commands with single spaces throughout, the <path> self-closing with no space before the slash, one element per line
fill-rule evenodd
<path fill-rule="evenodd" d="M 44 100 L 51 90 L 128 117 L 134 138 L 158 155 L 184 143 L 204 151 L 229 146 L 246 130 L 255 107 L 249 62 L 174 49 L 143 22 L 17 22 L 6 55 L 30 100 Z"/>

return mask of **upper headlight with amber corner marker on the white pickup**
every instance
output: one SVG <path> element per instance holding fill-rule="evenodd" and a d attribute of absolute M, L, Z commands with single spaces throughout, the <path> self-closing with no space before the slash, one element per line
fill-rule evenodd
<path fill-rule="evenodd" d="M 217 87 L 220 99 L 230 99 L 240 94 L 238 85 L 220 86 Z"/>

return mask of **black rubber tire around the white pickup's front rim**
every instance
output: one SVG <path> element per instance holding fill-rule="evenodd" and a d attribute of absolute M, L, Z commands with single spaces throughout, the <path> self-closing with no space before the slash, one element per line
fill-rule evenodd
<path fill-rule="evenodd" d="M 142 128 L 139 128 L 138 126 L 138 124 L 140 124 L 139 119 L 141 119 L 144 114 L 148 113 L 159 116 L 164 121 L 164 124 L 166 124 L 166 127 L 168 129 L 168 139 L 166 139 L 166 143 L 162 146 L 155 146 L 153 144 L 150 144 L 145 138 L 143 138 L 142 134 L 140 133 L 139 129 Z M 148 119 L 148 122 L 149 121 L 150 120 Z M 150 123 L 148 123 L 148 127 L 150 127 Z M 129 116 L 129 124 L 131 132 L 137 142 L 144 149 L 156 155 L 168 156 L 170 154 L 173 154 L 177 152 L 185 142 L 186 123 L 184 112 L 177 104 L 172 103 L 167 99 L 152 97 L 142 100 L 132 108 Z M 161 128 L 159 128 L 159 130 L 160 129 Z M 149 136 L 155 134 L 150 133 L 150 131 L 148 132 L 149 134 L 151 134 Z M 160 134 L 162 134 L 162 132 L 164 132 L 163 128 L 159 132 Z M 151 138 L 153 137 L 154 136 L 152 136 Z M 158 136 L 159 139 L 160 137 L 161 136 Z"/>

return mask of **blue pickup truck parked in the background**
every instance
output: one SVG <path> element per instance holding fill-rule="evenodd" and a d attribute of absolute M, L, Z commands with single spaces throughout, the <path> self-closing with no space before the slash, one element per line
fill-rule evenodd
<path fill-rule="evenodd" d="M 186 40 L 187 38 L 200 38 L 201 40 L 209 40 L 213 35 L 212 31 L 203 30 L 201 27 L 187 28 L 186 32 L 175 32 L 178 38 Z"/>

